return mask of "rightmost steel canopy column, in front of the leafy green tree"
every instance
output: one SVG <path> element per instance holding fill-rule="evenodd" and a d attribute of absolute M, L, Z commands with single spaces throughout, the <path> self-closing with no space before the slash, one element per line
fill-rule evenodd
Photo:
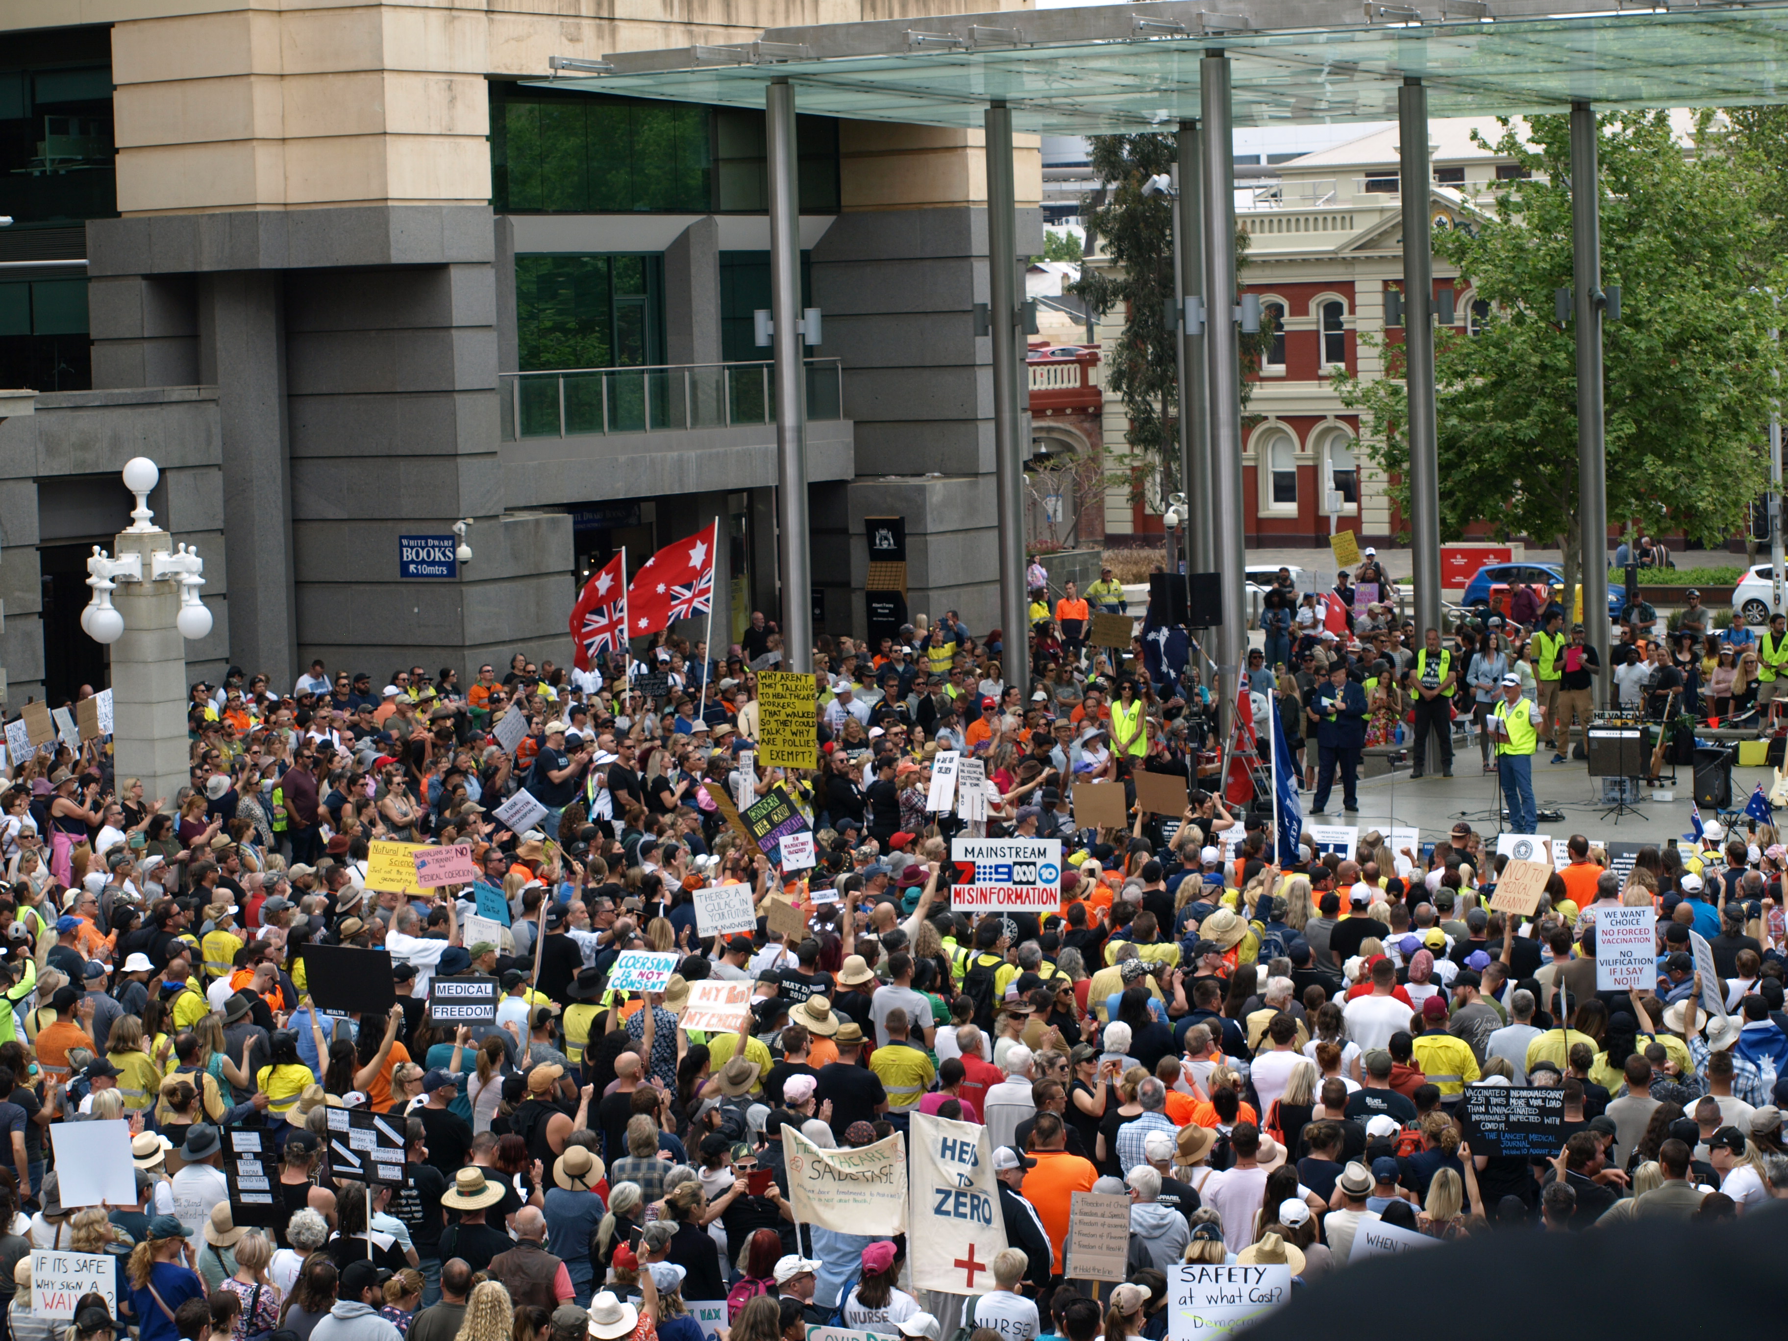
<path fill-rule="evenodd" d="M 1595 697 L 1609 701 L 1607 449 L 1602 420 L 1602 206 L 1595 109 L 1570 105 L 1572 313 L 1577 327 L 1577 535 L 1582 549 L 1582 628 L 1602 663 Z M 1572 594 L 1564 594 L 1570 610 Z M 1570 622 L 1570 620 L 1566 620 Z"/>

